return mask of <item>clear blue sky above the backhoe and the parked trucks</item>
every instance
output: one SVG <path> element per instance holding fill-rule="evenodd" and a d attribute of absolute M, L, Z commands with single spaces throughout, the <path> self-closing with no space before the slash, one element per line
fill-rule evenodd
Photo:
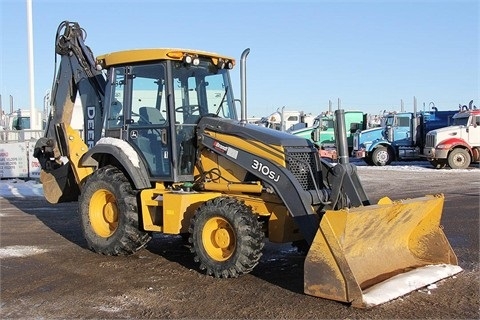
<path fill-rule="evenodd" d="M 33 0 L 35 104 L 51 88 L 59 23 L 77 21 L 95 55 L 181 47 L 247 60 L 248 115 L 319 114 L 337 99 L 368 113 L 479 101 L 480 1 Z M 29 108 L 25 0 L 0 0 L 0 94 Z M 239 64 L 233 71 L 240 98 Z"/>

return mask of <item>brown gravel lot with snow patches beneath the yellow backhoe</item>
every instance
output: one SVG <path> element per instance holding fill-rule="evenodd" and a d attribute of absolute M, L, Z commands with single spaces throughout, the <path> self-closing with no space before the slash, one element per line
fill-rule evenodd
<path fill-rule="evenodd" d="M 290 245 L 267 243 L 252 273 L 219 280 L 198 271 L 180 237 L 156 235 L 133 256 L 102 256 L 86 249 L 76 204 L 0 197 L 0 318 L 478 319 L 480 168 L 359 164 L 358 172 L 373 202 L 444 193 L 442 224 L 464 271 L 356 309 L 305 295 L 304 257 Z"/>

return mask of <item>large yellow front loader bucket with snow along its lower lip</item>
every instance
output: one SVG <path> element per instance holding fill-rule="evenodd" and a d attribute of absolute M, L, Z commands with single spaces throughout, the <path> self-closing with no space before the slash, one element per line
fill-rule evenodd
<path fill-rule="evenodd" d="M 305 260 L 305 293 L 367 308 L 462 269 L 440 226 L 443 195 L 327 211 Z"/>

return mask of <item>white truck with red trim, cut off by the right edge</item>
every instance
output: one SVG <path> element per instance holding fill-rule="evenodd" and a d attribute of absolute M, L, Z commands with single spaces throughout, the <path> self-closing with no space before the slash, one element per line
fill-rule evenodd
<path fill-rule="evenodd" d="M 465 169 L 480 161 L 480 110 L 453 116 L 453 125 L 427 133 L 423 154 L 437 169 Z"/>

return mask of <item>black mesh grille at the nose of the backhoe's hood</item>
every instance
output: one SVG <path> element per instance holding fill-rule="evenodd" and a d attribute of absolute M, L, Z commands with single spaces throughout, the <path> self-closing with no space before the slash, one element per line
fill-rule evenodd
<path fill-rule="evenodd" d="M 297 178 L 298 182 L 304 190 L 314 190 L 315 183 L 312 178 L 313 170 L 317 171 L 316 153 L 310 152 L 288 152 L 287 169 Z"/>

